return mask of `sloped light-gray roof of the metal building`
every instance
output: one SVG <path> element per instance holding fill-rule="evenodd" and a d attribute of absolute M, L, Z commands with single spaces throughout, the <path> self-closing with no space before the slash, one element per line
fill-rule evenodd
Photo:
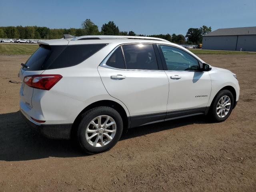
<path fill-rule="evenodd" d="M 256 27 L 217 29 L 204 36 L 256 35 Z"/>

